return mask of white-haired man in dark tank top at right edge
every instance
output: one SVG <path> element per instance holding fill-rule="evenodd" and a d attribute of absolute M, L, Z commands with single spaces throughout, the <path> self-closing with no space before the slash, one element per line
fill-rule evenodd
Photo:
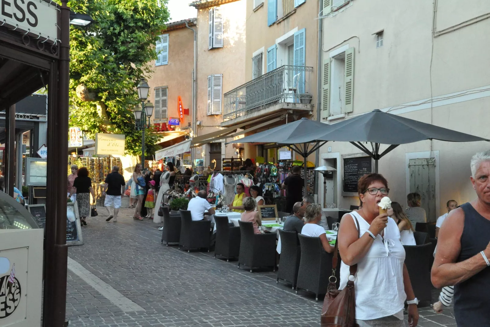
<path fill-rule="evenodd" d="M 490 326 L 490 151 L 471 159 L 477 198 L 452 210 L 439 230 L 435 287 L 454 286 L 458 327 Z"/>

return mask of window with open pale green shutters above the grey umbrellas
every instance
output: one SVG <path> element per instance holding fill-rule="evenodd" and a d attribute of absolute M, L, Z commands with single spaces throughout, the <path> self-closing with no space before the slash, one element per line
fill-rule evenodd
<path fill-rule="evenodd" d="M 354 48 L 323 60 L 321 116 L 353 111 Z"/>

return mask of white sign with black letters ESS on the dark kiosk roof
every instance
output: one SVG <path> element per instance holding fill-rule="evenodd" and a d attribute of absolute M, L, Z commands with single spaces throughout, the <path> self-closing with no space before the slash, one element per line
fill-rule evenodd
<path fill-rule="evenodd" d="M 0 0 L 0 26 L 8 24 L 16 30 L 37 34 L 42 41 L 53 43 L 58 33 L 56 22 L 54 1 Z"/>

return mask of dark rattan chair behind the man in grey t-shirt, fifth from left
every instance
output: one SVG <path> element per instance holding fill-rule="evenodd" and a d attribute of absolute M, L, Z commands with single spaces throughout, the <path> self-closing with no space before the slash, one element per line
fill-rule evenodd
<path fill-rule="evenodd" d="M 276 283 L 279 283 L 279 279 L 283 279 L 293 284 L 294 290 L 298 278 L 301 247 L 296 232 L 287 232 L 281 229 L 278 232 L 281 238 L 281 257 L 279 258 Z"/>

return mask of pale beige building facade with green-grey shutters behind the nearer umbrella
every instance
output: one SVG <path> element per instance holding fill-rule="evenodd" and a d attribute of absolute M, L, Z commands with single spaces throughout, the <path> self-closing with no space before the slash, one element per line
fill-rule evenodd
<path fill-rule="evenodd" d="M 490 77 L 484 69 L 490 59 L 490 2 L 323 2 L 321 121 L 381 109 L 490 138 Z M 407 193 L 417 191 L 428 221 L 435 221 L 448 200 L 462 204 L 475 197 L 470 158 L 489 147 L 438 140 L 400 145 L 379 161 L 379 172 L 389 182 L 392 201 L 406 208 Z M 337 168 L 326 194 L 319 178 L 320 202 L 325 195 L 340 208 L 359 205 L 357 194 L 344 190 L 344 179 L 346 163 L 366 156 L 360 152 L 346 142 L 320 149 L 320 165 Z"/>

